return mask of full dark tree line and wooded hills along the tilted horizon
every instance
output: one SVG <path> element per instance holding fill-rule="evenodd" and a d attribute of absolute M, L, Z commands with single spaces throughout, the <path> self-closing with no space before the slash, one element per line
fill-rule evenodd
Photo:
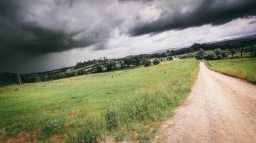
<path fill-rule="evenodd" d="M 237 41 L 237 42 L 220 42 L 214 44 L 192 44 L 191 47 L 179 50 L 167 50 L 165 53 L 141 54 L 138 56 L 128 56 L 122 59 L 93 59 L 89 61 L 77 62 L 73 67 L 67 67 L 60 70 L 54 70 L 45 73 L 21 74 L 20 79 L 23 83 L 29 82 L 46 82 L 55 79 L 63 79 L 72 76 L 80 76 L 91 73 L 102 73 L 111 70 L 144 65 L 148 67 L 151 64 L 159 64 L 160 61 L 172 60 L 173 56 L 179 59 L 195 57 L 196 59 L 225 59 L 228 54 L 233 56 L 234 53 L 240 51 L 250 52 L 251 56 L 256 56 L 255 39 Z M 245 48 L 246 47 L 246 48 Z M 149 59 L 155 60 L 151 62 Z M 164 59 L 164 60 L 163 60 Z M 18 84 L 19 78 L 17 73 L 0 73 L 0 84 Z"/>

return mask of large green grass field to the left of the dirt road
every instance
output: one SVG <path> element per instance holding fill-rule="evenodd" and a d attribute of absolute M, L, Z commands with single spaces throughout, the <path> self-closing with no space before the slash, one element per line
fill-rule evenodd
<path fill-rule="evenodd" d="M 147 142 L 188 96 L 198 61 L 0 87 L 0 142 Z"/>

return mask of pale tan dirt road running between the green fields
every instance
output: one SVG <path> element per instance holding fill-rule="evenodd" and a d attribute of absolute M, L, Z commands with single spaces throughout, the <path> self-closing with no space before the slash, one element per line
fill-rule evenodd
<path fill-rule="evenodd" d="M 153 142 L 256 143 L 256 86 L 200 62 L 190 96 Z"/>

